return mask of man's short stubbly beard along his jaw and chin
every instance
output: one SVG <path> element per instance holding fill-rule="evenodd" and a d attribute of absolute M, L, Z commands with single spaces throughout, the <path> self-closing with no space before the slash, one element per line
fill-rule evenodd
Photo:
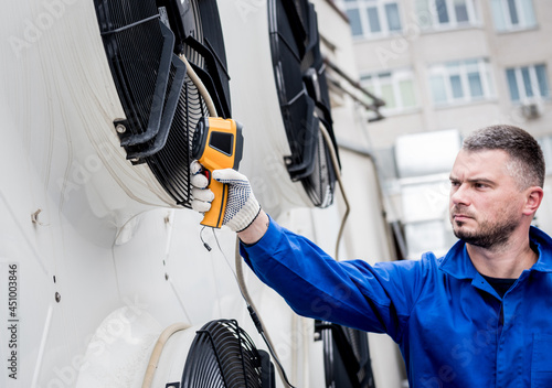
<path fill-rule="evenodd" d="M 506 214 L 502 220 L 498 220 L 495 224 L 488 222 L 479 223 L 479 227 L 476 230 L 463 230 L 460 228 L 463 224 L 461 222 L 457 223 L 453 220 L 454 235 L 467 244 L 488 249 L 499 247 L 508 241 L 512 231 L 518 227 L 519 220 Z"/>

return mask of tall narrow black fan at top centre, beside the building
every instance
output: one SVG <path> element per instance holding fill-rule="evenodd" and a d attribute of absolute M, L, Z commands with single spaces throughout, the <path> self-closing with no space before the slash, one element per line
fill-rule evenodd
<path fill-rule="evenodd" d="M 320 53 L 317 15 L 307 0 L 268 0 L 274 76 L 291 154 L 293 181 L 301 182 L 315 206 L 332 203 L 336 171 L 320 126 L 333 136 L 330 99 Z M 337 152 L 336 152 L 337 153 Z"/>

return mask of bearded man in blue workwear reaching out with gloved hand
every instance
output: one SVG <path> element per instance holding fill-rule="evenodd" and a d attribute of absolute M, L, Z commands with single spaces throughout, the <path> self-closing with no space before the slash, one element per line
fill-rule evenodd
<path fill-rule="evenodd" d="M 231 185 L 225 223 L 258 278 L 301 315 L 388 333 L 411 387 L 552 387 L 552 239 L 531 226 L 544 160 L 522 129 L 464 141 L 450 173 L 459 240 L 442 258 L 337 262 L 270 219 L 243 175 L 213 176 Z M 194 190 L 197 209 L 209 208 L 208 193 Z"/>

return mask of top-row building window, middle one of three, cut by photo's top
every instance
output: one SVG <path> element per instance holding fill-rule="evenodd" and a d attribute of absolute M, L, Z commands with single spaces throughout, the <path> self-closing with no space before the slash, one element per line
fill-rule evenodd
<path fill-rule="evenodd" d="M 423 29 L 456 29 L 478 24 L 474 0 L 416 0 Z"/>

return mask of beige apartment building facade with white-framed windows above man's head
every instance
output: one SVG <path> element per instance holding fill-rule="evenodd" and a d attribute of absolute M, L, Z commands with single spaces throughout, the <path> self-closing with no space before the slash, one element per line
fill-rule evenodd
<path fill-rule="evenodd" d="M 491 122 L 552 127 L 552 3 L 346 0 L 364 86 L 386 101 L 373 146 L 400 134 Z M 531 106 L 534 106 L 531 107 Z"/>

